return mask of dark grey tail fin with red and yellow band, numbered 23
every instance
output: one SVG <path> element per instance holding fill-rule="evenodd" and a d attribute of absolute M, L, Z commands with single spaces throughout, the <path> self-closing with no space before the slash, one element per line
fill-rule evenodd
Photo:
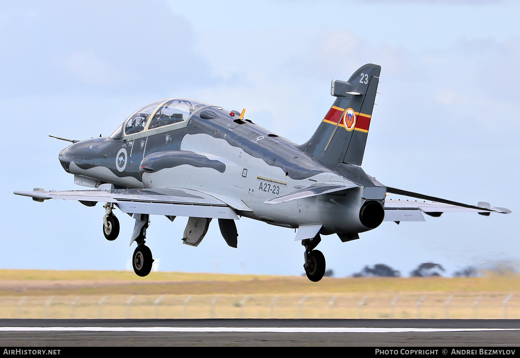
<path fill-rule="evenodd" d="M 302 151 L 328 164 L 361 165 L 381 66 L 368 63 L 348 82 L 333 80 L 334 104 Z"/>

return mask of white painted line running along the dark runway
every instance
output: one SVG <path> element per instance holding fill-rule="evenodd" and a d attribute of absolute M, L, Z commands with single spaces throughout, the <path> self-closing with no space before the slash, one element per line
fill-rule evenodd
<path fill-rule="evenodd" d="M 520 330 L 520 328 L 375 328 L 375 327 L 0 327 L 0 331 L 235 332 L 235 333 L 399 333 Z"/>

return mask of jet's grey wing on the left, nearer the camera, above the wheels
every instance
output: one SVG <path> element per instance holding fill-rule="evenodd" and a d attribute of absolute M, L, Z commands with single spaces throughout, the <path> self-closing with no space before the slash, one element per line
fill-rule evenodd
<path fill-rule="evenodd" d="M 15 191 L 14 194 L 28 196 L 35 201 L 48 199 L 78 200 L 86 206 L 94 206 L 98 201 L 112 202 L 122 212 L 132 214 L 239 219 L 230 204 L 196 190 L 186 188 L 105 189 L 101 187 L 90 190 L 66 191 L 44 191 L 35 188 L 33 191 Z M 241 205 L 247 208 L 243 202 Z M 242 210 L 243 208 L 238 209 Z"/>

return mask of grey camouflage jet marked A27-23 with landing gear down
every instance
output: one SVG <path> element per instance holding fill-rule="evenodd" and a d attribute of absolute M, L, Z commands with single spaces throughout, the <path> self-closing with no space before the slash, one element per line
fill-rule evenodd
<path fill-rule="evenodd" d="M 307 277 L 319 281 L 325 258 L 321 235 L 346 242 L 383 220 L 424 221 L 423 213 L 508 209 L 453 202 L 388 187 L 360 167 L 381 67 L 367 64 L 347 82 L 332 81 L 334 104 L 308 142 L 297 145 L 244 119 L 244 111 L 191 99 L 163 99 L 140 108 L 109 137 L 69 140 L 59 160 L 74 183 L 89 190 L 15 191 L 35 201 L 105 203 L 103 234 L 119 234 L 118 208 L 135 219 L 134 271 L 146 276 L 152 253 L 145 245 L 150 215 L 187 216 L 184 244 L 198 246 L 212 219 L 237 247 L 235 220 L 245 218 L 297 229 Z M 388 193 L 422 201 L 390 200 Z M 427 201 L 426 201 L 427 200 Z"/>

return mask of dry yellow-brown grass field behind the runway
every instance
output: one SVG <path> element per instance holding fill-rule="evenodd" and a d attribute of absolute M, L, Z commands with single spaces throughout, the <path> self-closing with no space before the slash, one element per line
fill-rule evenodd
<path fill-rule="evenodd" d="M 0 270 L 0 317 L 520 318 L 520 276 L 323 278 Z"/>

